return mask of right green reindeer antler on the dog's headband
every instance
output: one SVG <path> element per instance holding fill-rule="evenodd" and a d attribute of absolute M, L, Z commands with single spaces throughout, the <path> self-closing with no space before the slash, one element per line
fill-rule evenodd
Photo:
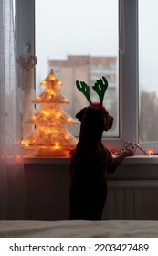
<path fill-rule="evenodd" d="M 96 80 L 94 86 L 92 86 L 92 89 L 97 92 L 100 98 L 100 105 L 102 105 L 105 91 L 108 88 L 108 80 L 105 77 L 102 77 L 100 80 Z"/>

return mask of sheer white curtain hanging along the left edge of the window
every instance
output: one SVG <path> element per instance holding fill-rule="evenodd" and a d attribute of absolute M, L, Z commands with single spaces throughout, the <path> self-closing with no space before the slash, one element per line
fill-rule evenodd
<path fill-rule="evenodd" d="M 0 0 L 0 219 L 26 218 L 13 0 Z"/>

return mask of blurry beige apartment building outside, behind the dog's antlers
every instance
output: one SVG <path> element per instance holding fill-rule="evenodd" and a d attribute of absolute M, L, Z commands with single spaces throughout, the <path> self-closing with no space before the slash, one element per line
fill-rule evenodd
<path fill-rule="evenodd" d="M 76 80 L 83 80 L 90 89 L 95 81 L 105 76 L 109 81 L 104 105 L 114 116 L 113 132 L 118 130 L 118 59 L 116 57 L 97 57 L 90 55 L 68 55 L 65 60 L 48 60 L 48 68 L 53 69 L 58 80 L 63 84 L 62 95 L 68 99 L 70 105 L 64 107 L 65 111 L 75 117 L 76 113 L 89 103 L 77 90 Z M 90 90 L 91 101 L 99 101 L 95 91 Z M 75 131 L 78 129 L 75 128 Z M 74 134 L 79 133 L 72 132 Z M 113 134 L 112 134 L 113 135 Z"/>

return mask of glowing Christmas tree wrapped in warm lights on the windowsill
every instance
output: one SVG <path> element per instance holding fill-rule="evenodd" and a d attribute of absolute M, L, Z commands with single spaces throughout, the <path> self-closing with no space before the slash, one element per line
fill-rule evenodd
<path fill-rule="evenodd" d="M 60 107 L 60 104 L 69 104 L 69 102 L 58 90 L 62 83 L 56 78 L 53 70 L 41 85 L 46 89 L 33 101 L 41 107 L 30 120 L 26 121 L 37 124 L 37 128 L 22 141 L 23 147 L 28 155 L 68 157 L 76 146 L 76 140 L 68 133 L 66 125 L 77 122 Z"/>

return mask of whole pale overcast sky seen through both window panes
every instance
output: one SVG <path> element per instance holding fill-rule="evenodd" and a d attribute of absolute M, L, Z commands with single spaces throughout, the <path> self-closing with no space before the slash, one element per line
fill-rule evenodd
<path fill-rule="evenodd" d="M 140 84 L 158 91 L 158 0 L 139 0 L 139 10 Z M 48 59 L 118 55 L 118 0 L 36 0 L 36 24 L 39 81 Z"/>

